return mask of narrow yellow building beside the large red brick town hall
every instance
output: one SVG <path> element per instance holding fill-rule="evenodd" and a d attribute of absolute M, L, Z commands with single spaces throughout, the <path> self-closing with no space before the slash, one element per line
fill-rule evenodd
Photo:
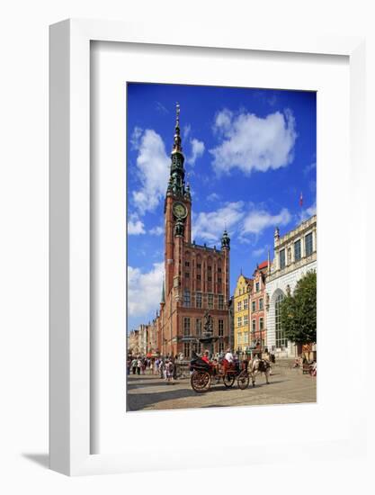
<path fill-rule="evenodd" d="M 250 345 L 250 294 L 253 280 L 239 275 L 234 297 L 235 352 L 246 352 Z"/>

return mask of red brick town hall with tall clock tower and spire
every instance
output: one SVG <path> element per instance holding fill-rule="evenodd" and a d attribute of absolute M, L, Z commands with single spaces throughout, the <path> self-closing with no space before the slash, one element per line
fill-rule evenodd
<path fill-rule="evenodd" d="M 198 246 L 192 241 L 192 196 L 185 184 L 179 107 L 171 153 L 170 177 L 165 194 L 165 283 L 156 319 L 157 347 L 163 356 L 192 350 L 201 352 L 205 311 L 213 320 L 218 340 L 214 352 L 229 342 L 229 249 L 224 230 L 221 246 Z"/>

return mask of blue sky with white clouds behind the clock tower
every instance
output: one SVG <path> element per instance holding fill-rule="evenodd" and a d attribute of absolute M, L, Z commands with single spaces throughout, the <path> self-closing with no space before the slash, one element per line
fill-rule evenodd
<path fill-rule="evenodd" d="M 192 235 L 231 238 L 230 290 L 251 276 L 281 235 L 316 212 L 316 94 L 129 83 L 128 329 L 158 309 L 164 271 L 164 197 L 180 103 Z M 303 204 L 299 205 L 302 193 Z"/>

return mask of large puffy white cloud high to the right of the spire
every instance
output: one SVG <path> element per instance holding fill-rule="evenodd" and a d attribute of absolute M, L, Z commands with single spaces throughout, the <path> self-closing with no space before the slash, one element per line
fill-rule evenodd
<path fill-rule="evenodd" d="M 265 172 L 287 166 L 293 160 L 297 138 L 295 120 L 290 110 L 274 112 L 265 118 L 253 113 L 225 109 L 216 115 L 214 131 L 221 142 L 210 149 L 213 167 L 218 173 L 239 168 L 245 174 L 253 170 Z"/>

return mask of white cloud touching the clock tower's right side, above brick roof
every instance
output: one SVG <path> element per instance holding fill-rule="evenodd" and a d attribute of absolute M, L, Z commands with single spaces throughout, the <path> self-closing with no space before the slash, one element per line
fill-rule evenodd
<path fill-rule="evenodd" d="M 228 202 L 217 211 L 201 212 L 193 219 L 192 237 L 201 238 L 210 243 L 219 242 L 224 228 L 236 228 L 244 217 L 244 202 Z"/>

